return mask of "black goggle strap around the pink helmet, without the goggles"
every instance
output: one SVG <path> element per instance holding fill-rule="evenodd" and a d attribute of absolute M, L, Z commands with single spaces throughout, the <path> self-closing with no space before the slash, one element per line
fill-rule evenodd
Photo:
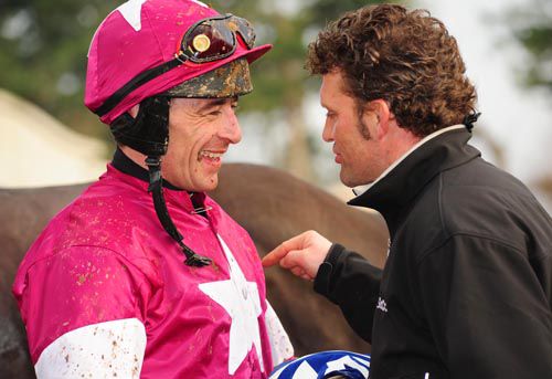
<path fill-rule="evenodd" d="M 185 61 L 188 61 L 188 59 L 189 57 L 187 54 L 181 54 L 174 57 L 172 61 L 160 64 L 157 67 L 140 73 L 139 75 L 135 76 L 130 82 L 128 82 L 123 87 L 117 90 L 112 96 L 109 96 L 104 102 L 104 104 L 102 104 L 96 110 L 94 110 L 94 113 L 99 117 L 106 115 L 107 113 L 113 110 L 113 108 L 115 108 L 117 104 L 119 104 L 132 91 L 152 81 L 153 78 L 164 74 L 169 70 L 172 70 L 183 64 Z"/>

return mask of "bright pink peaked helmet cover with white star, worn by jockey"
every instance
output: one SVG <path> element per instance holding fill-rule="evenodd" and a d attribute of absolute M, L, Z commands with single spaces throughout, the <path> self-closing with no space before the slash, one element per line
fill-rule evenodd
<path fill-rule="evenodd" d="M 92 40 L 85 105 L 98 114 L 103 123 L 112 124 L 147 97 L 167 92 L 240 57 L 252 63 L 272 48 L 247 46 L 240 36 L 236 38 L 235 50 L 224 59 L 204 63 L 185 59 L 176 61 L 187 32 L 203 19 L 220 17 L 214 9 L 195 0 L 129 0 L 121 4 L 107 15 Z M 130 83 L 136 84 L 140 74 L 160 66 L 169 69 L 166 72 L 161 69 L 160 73 L 158 70 L 153 78 L 129 86 Z M 125 95 L 114 101 L 114 94 L 121 90 L 127 90 Z M 112 105 L 106 106 L 109 97 Z"/>

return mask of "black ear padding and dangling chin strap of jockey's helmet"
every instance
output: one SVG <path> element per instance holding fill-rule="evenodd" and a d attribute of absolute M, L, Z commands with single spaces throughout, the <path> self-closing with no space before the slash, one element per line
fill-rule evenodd
<path fill-rule="evenodd" d="M 157 218 L 164 231 L 179 244 L 185 255 L 184 263 L 193 267 L 211 264 L 209 257 L 195 254 L 183 243 L 183 236 L 172 222 L 163 197 L 163 179 L 161 176 L 161 157 L 167 154 L 169 145 L 169 107 L 170 99 L 156 96 L 145 99 L 136 118 L 128 113 L 119 116 L 112 124 L 112 133 L 118 143 L 146 155 L 149 171 L 148 192 L 153 198 Z"/>

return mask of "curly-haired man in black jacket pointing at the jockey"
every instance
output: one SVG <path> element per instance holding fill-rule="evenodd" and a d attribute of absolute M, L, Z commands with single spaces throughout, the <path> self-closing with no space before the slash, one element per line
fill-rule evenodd
<path fill-rule="evenodd" d="M 372 344 L 370 378 L 552 378 L 552 220 L 468 145 L 476 92 L 427 11 L 346 13 L 309 45 L 349 203 L 382 213 L 383 271 L 315 231 L 275 249 Z M 367 236 L 369 238 L 369 236 Z"/>

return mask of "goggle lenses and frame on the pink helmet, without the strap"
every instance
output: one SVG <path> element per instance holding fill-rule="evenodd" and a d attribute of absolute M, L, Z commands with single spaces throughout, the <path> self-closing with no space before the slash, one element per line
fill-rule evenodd
<path fill-rule="evenodd" d="M 185 32 L 176 56 L 194 63 L 223 60 L 236 50 L 237 34 L 253 49 L 255 31 L 247 20 L 231 13 L 200 20 Z"/>

